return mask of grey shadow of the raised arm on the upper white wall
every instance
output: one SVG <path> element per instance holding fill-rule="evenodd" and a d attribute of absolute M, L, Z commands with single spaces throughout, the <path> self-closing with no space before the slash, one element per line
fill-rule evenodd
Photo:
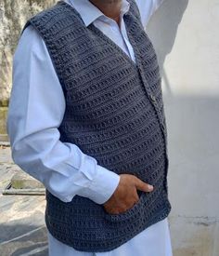
<path fill-rule="evenodd" d="M 169 82 L 163 64 L 166 56 L 172 51 L 178 26 L 187 9 L 188 0 L 164 0 L 162 6 L 150 19 L 146 29 L 149 38 L 158 54 L 161 74 L 167 91 L 170 92 Z"/>

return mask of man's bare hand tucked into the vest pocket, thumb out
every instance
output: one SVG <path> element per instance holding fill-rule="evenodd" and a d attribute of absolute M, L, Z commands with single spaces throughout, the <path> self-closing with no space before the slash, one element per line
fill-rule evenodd
<path fill-rule="evenodd" d="M 120 182 L 110 199 L 103 204 L 110 214 L 118 214 L 131 209 L 139 200 L 137 189 L 144 192 L 151 192 L 153 186 L 142 182 L 135 175 L 121 174 Z"/>

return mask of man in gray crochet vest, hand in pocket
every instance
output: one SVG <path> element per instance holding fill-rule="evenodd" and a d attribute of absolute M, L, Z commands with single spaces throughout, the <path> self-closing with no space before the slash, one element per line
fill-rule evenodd
<path fill-rule="evenodd" d="M 172 255 L 161 77 L 144 31 L 159 1 L 146 2 L 59 1 L 23 28 L 7 132 L 15 163 L 45 184 L 50 255 Z"/>

